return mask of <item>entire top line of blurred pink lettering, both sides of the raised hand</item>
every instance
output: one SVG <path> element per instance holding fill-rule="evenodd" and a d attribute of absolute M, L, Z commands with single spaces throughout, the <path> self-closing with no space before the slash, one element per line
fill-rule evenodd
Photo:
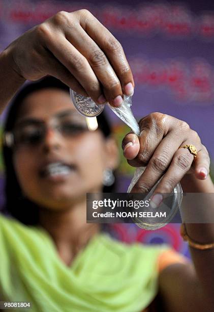
<path fill-rule="evenodd" d="M 117 5 L 95 7 L 89 3 L 78 2 L 31 2 L 23 0 L 18 6 L 7 2 L 0 4 L 0 13 L 16 23 L 40 23 L 56 12 L 72 12 L 81 8 L 88 9 L 96 15 L 106 27 L 120 32 L 131 32 L 135 35 L 162 35 L 175 38 L 200 36 L 214 38 L 214 13 L 212 11 L 196 17 L 185 5 L 181 4 L 145 4 L 131 7 Z"/>

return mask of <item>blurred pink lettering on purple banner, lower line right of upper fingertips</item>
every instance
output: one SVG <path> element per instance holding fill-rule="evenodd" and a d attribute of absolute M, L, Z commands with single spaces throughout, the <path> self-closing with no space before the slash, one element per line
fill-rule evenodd
<path fill-rule="evenodd" d="M 190 65 L 188 65 L 190 63 Z M 209 102 L 214 99 L 214 69 L 205 60 L 168 60 L 165 63 L 145 58 L 130 61 L 135 83 L 146 90 L 165 89 L 180 101 Z"/>

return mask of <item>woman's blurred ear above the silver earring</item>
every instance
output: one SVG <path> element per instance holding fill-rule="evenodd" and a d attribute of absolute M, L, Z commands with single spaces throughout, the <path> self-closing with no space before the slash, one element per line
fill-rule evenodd
<path fill-rule="evenodd" d="M 115 138 L 109 137 L 105 142 L 106 168 L 116 169 L 119 164 L 119 149 Z"/>

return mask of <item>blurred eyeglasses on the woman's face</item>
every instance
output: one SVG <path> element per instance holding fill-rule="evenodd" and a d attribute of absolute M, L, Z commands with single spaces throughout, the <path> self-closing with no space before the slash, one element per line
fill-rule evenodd
<path fill-rule="evenodd" d="M 4 144 L 10 148 L 38 146 L 43 142 L 48 128 L 68 138 L 88 131 L 84 120 L 74 120 L 72 116 L 52 118 L 49 125 L 43 121 L 26 120 L 15 126 L 13 131 L 4 134 Z"/>

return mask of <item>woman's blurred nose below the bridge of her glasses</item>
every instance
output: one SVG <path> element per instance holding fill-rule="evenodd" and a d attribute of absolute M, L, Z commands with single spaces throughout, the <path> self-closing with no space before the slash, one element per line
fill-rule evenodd
<path fill-rule="evenodd" d="M 58 150 L 63 145 L 63 138 L 60 136 L 60 133 L 53 129 L 52 127 L 48 127 L 46 129 L 46 133 L 43 139 L 43 150 L 44 152 L 49 152 L 50 150 Z"/>

